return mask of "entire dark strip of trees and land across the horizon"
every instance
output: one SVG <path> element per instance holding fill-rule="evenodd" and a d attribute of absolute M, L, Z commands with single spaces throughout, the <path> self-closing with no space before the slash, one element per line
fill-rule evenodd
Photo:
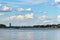
<path fill-rule="evenodd" d="M 60 28 L 60 24 L 33 25 L 33 26 L 6 26 L 4 24 L 0 24 L 0 28 Z"/>

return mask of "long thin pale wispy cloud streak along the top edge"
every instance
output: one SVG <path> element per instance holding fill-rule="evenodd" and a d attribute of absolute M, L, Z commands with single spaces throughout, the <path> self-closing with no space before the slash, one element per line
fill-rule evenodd
<path fill-rule="evenodd" d="M 8 4 L 30 4 L 30 5 L 35 5 L 35 4 L 42 4 L 42 3 L 46 3 L 48 0 L 20 0 L 20 1 L 13 1 L 13 2 L 8 2 L 6 1 L 6 3 Z"/>

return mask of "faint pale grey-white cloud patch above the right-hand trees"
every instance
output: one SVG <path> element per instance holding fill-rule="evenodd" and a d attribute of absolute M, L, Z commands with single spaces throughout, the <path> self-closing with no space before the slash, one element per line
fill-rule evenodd
<path fill-rule="evenodd" d="M 38 23 L 41 22 L 40 24 L 44 24 L 45 25 L 45 24 L 54 23 L 54 20 L 53 20 L 54 18 L 46 16 L 46 15 L 42 15 L 42 16 L 40 16 L 38 18 L 39 18 Z"/>

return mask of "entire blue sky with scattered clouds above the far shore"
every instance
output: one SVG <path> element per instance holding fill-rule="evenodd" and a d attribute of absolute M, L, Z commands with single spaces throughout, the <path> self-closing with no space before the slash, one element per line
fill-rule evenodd
<path fill-rule="evenodd" d="M 0 24 L 32 26 L 60 23 L 60 0 L 0 0 Z"/>

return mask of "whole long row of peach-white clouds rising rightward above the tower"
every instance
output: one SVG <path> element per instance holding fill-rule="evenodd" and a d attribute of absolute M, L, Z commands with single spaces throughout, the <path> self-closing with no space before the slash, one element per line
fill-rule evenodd
<path fill-rule="evenodd" d="M 18 16 L 10 16 L 7 18 L 4 18 L 3 21 L 10 21 L 10 20 L 24 20 L 24 19 L 33 19 L 33 13 L 26 14 L 26 15 L 18 15 Z"/>

